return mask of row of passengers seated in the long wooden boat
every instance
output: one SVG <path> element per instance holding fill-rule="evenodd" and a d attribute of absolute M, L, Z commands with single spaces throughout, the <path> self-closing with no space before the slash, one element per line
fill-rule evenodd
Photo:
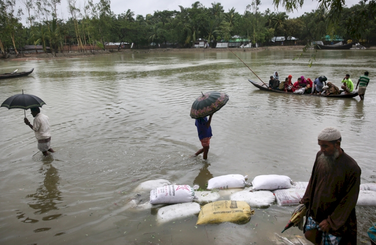
<path fill-rule="evenodd" d="M 337 86 L 331 82 L 326 82 L 327 78 L 325 76 L 320 76 L 312 81 L 310 78 L 305 78 L 301 76 L 296 82 L 292 82 L 292 76 L 288 75 L 285 81 L 280 82 L 278 72 L 274 72 L 273 76 L 270 76 L 269 89 L 285 91 L 296 94 L 322 94 L 322 95 L 339 95 L 341 92 L 345 94 L 350 94 L 354 90 L 354 84 L 350 79 L 350 75 L 342 79 L 340 91 Z M 324 88 L 324 85 L 327 86 Z"/>

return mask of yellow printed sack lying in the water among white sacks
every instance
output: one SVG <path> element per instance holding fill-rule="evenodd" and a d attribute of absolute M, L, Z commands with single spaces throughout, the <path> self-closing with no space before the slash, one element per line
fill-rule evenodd
<path fill-rule="evenodd" d="M 201 208 L 197 224 L 248 221 L 254 213 L 245 201 L 215 201 Z"/>

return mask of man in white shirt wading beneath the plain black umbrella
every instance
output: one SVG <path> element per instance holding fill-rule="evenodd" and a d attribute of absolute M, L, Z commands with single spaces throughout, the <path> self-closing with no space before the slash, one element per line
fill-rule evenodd
<path fill-rule="evenodd" d="M 42 151 L 43 155 L 48 156 L 48 152 L 55 152 L 51 145 L 50 123 L 48 116 L 41 113 L 39 107 L 30 108 L 31 114 L 34 117 L 33 125 L 25 117 L 24 122 L 34 130 L 35 137 L 38 140 L 38 149 Z"/>

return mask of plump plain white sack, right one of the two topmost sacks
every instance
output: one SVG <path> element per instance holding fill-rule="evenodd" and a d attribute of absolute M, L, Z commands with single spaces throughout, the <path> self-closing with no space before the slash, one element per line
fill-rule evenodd
<path fill-rule="evenodd" d="M 254 190 L 277 190 L 291 188 L 291 179 L 285 175 L 259 175 L 252 181 Z"/>

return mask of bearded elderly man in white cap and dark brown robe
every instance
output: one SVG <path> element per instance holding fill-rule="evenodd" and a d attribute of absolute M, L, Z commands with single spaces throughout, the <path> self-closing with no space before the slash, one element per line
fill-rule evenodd
<path fill-rule="evenodd" d="M 308 210 L 304 235 L 313 244 L 356 244 L 360 168 L 341 148 L 337 129 L 323 129 L 318 144 L 320 151 L 300 200 Z"/>

